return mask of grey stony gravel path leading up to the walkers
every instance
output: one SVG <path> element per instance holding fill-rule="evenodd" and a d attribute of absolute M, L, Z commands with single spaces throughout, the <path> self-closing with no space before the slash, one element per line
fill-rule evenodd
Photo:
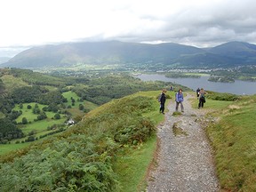
<path fill-rule="evenodd" d="M 164 123 L 158 126 L 160 149 L 156 170 L 148 177 L 148 192 L 220 191 L 211 147 L 196 121 L 204 118 L 205 109 L 191 108 L 190 97 L 188 95 L 183 102 L 185 112 L 181 116 L 172 116 L 175 110 L 172 100 L 167 106 L 169 111 L 165 113 Z M 173 124 L 180 132 L 176 136 Z"/>

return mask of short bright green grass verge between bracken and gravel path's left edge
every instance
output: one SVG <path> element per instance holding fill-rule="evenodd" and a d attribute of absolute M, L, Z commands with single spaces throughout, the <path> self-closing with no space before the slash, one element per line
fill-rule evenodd
<path fill-rule="evenodd" d="M 152 119 L 155 124 L 160 124 L 164 121 L 164 116 L 159 114 L 159 103 L 157 101 L 159 92 L 161 91 L 138 92 L 134 94 L 134 96 L 140 95 L 156 98 L 156 102 L 154 103 L 154 108 L 156 108 L 156 111 L 150 111 L 143 114 L 144 116 L 148 116 L 150 119 Z M 153 158 L 155 152 L 156 135 L 151 137 L 138 148 L 127 148 L 117 156 L 114 169 L 118 175 L 122 192 L 145 190 L 147 187 L 146 176 L 148 166 L 152 163 L 152 161 L 154 161 Z"/>

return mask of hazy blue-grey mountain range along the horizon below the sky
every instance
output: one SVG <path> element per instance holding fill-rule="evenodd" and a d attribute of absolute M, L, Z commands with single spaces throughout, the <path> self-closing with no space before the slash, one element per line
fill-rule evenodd
<path fill-rule="evenodd" d="M 76 64 L 234 68 L 256 64 L 256 45 L 228 42 L 204 49 L 184 44 L 119 41 L 47 44 L 20 52 L 11 60 L 0 64 L 0 68 L 63 68 Z"/>

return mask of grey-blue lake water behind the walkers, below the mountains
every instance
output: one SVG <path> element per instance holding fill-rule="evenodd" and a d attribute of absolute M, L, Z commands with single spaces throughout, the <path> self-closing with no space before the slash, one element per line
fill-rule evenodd
<path fill-rule="evenodd" d="M 196 91 L 196 89 L 204 88 L 213 92 L 228 92 L 234 94 L 256 94 L 256 82 L 245 82 L 236 80 L 235 83 L 219 83 L 208 81 L 209 76 L 201 76 L 200 78 L 168 78 L 164 75 L 159 74 L 142 74 L 136 76 L 142 81 L 164 81 L 173 82 L 175 84 L 182 84 Z"/>

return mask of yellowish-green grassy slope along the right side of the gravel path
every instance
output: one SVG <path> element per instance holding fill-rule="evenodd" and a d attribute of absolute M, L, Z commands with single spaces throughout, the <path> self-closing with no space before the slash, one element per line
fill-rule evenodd
<path fill-rule="evenodd" d="M 220 119 L 206 132 L 214 148 L 221 190 L 256 191 L 256 96 L 207 100 L 207 108 L 214 109 L 211 115 Z"/>

